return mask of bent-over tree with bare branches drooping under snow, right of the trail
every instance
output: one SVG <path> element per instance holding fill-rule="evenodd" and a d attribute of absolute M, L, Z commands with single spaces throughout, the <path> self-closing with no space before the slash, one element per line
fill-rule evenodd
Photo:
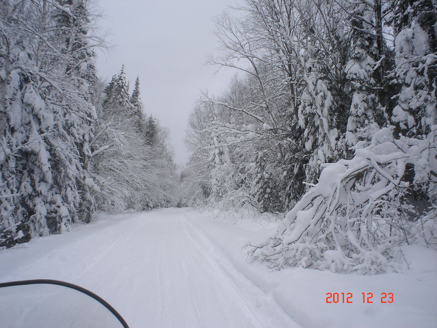
<path fill-rule="evenodd" d="M 351 160 L 323 164 L 319 182 L 253 260 L 332 272 L 399 272 L 403 243 L 437 249 L 437 126 L 423 139 L 382 128 Z"/>

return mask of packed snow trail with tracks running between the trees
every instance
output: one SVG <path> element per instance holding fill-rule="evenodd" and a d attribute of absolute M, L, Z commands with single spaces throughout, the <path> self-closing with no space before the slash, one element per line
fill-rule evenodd
<path fill-rule="evenodd" d="M 0 253 L 0 282 L 78 284 L 112 304 L 132 328 L 300 327 L 189 216 L 185 209 L 133 213 L 40 238 Z"/>

